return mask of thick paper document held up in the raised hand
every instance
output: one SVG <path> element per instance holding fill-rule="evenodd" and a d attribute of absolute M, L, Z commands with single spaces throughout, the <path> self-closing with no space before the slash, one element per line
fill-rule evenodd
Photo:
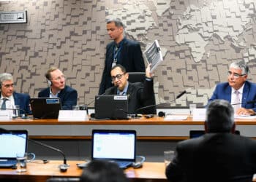
<path fill-rule="evenodd" d="M 154 71 L 159 63 L 163 61 L 162 52 L 157 40 L 155 40 L 153 44 L 144 51 L 144 55 L 148 64 L 151 64 L 151 72 Z"/>

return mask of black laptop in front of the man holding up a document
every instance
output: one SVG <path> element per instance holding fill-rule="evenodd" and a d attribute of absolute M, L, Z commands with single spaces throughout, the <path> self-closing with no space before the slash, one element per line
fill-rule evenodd
<path fill-rule="evenodd" d="M 128 119 L 128 95 L 95 96 L 95 119 Z"/>

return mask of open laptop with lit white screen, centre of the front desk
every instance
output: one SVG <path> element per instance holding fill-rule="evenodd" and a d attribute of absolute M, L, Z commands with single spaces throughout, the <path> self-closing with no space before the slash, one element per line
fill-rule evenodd
<path fill-rule="evenodd" d="M 92 130 L 91 159 L 116 162 L 125 169 L 136 160 L 135 130 Z"/>

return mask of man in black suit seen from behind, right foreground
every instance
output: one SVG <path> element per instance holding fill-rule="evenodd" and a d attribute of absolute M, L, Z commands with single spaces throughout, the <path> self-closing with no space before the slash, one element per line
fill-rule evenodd
<path fill-rule="evenodd" d="M 167 180 L 192 182 L 252 181 L 256 173 L 256 141 L 233 134 L 233 107 L 227 100 L 212 101 L 206 111 L 206 134 L 181 141 L 167 166 Z"/>

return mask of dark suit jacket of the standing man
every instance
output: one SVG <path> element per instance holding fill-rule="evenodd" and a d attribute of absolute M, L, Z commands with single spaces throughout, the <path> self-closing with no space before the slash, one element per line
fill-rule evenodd
<path fill-rule="evenodd" d="M 121 43 L 121 50 L 117 57 L 117 63 L 126 68 L 127 72 L 145 72 L 145 63 L 143 60 L 140 44 L 124 38 Z M 112 41 L 107 45 L 105 67 L 102 73 L 102 81 L 99 84 L 99 95 L 103 94 L 106 89 L 112 87 L 110 71 L 113 63 L 113 50 L 115 42 Z"/>

